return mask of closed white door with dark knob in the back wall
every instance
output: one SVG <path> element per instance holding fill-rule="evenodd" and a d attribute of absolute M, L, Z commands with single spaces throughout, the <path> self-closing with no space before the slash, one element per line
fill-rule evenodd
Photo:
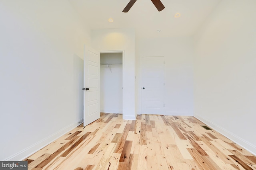
<path fill-rule="evenodd" d="M 164 57 L 142 57 L 142 114 L 164 114 Z"/>

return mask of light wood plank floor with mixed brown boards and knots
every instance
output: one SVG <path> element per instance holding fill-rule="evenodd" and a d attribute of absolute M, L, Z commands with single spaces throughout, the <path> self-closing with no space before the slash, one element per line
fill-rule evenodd
<path fill-rule="evenodd" d="M 101 113 L 28 157 L 29 170 L 256 170 L 256 156 L 192 116 Z"/>

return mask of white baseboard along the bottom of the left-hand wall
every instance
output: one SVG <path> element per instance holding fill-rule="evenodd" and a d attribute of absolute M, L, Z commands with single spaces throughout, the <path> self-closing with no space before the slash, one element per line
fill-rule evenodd
<path fill-rule="evenodd" d="M 16 154 L 10 156 L 9 158 L 7 158 L 5 161 L 8 161 L 8 160 L 18 161 L 18 160 L 26 159 L 28 156 L 34 154 L 35 152 L 37 152 L 38 150 L 46 147 L 47 145 L 49 145 L 50 143 L 52 143 L 53 141 L 55 141 L 56 139 L 58 139 L 62 135 L 66 134 L 67 132 L 76 128 L 79 124 L 81 124 L 79 122 L 84 122 L 84 118 L 78 120 L 76 123 L 73 123 L 71 125 L 68 125 L 68 126 L 64 127 L 63 129 L 60 129 L 56 133 L 42 139 L 41 141 L 38 141 L 34 145 L 32 145 L 30 147 L 27 147 L 26 149 L 21 150 L 20 152 L 18 152 Z"/>

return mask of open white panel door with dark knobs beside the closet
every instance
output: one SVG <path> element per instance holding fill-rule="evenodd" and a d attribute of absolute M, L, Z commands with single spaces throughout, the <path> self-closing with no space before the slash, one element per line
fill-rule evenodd
<path fill-rule="evenodd" d="M 100 52 L 84 47 L 84 126 L 100 118 Z"/>

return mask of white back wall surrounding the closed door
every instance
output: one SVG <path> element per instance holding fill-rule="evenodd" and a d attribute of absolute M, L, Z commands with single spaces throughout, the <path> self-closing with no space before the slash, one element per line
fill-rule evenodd
<path fill-rule="evenodd" d="M 164 114 L 193 115 L 193 39 L 172 37 L 141 39 L 136 43 L 138 114 L 141 114 L 141 57 L 164 56 Z"/>

